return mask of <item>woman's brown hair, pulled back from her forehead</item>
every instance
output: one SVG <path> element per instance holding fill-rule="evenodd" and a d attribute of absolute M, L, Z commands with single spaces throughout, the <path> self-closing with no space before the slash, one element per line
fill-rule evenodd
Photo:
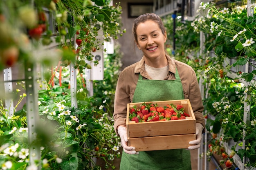
<path fill-rule="evenodd" d="M 148 20 L 152 20 L 154 22 L 156 22 L 159 26 L 159 28 L 161 29 L 162 33 L 164 34 L 165 33 L 165 28 L 164 28 L 164 24 L 161 20 L 161 18 L 156 15 L 155 13 L 145 13 L 145 14 L 142 14 L 140 15 L 138 18 L 136 18 L 133 22 L 133 26 L 132 26 L 132 33 L 134 35 L 134 39 L 135 39 L 135 42 L 137 43 L 138 40 L 137 40 L 137 34 L 136 34 L 136 29 L 137 29 L 137 26 L 140 24 L 140 23 L 144 23 Z"/>

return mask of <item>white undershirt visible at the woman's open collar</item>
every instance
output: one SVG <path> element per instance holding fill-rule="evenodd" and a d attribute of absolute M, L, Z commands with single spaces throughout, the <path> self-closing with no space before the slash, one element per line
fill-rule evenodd
<path fill-rule="evenodd" d="M 145 64 L 145 70 L 152 79 L 163 80 L 168 75 L 169 65 L 162 68 L 155 68 Z"/>

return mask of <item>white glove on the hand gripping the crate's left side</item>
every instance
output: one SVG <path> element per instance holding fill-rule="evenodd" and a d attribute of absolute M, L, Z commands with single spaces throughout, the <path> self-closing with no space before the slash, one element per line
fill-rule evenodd
<path fill-rule="evenodd" d="M 139 154 L 139 152 L 135 151 L 135 147 L 133 146 L 128 146 L 127 142 L 127 129 L 124 126 L 118 126 L 117 128 L 117 132 L 121 138 L 121 144 L 123 146 L 124 152 L 128 153 L 128 154 Z"/>

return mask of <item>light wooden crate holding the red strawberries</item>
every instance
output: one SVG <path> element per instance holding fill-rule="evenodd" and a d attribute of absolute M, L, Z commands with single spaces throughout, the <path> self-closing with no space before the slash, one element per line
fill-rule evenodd
<path fill-rule="evenodd" d="M 129 120 L 129 111 L 134 105 L 143 102 L 127 104 L 126 128 L 128 146 L 134 146 L 136 151 L 166 150 L 188 148 L 189 141 L 195 140 L 195 115 L 189 99 L 146 102 L 166 106 L 175 104 L 184 106 L 184 112 L 190 117 L 182 120 L 139 122 Z"/>

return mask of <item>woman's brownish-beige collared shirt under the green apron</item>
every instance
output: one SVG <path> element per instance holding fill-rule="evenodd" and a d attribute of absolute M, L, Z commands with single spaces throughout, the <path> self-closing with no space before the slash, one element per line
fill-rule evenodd
<path fill-rule="evenodd" d="M 185 63 L 171 59 L 168 55 L 166 55 L 166 57 L 169 63 L 169 73 L 164 79 L 175 79 L 174 74 L 176 73 L 177 67 L 177 71 L 182 82 L 184 99 L 190 100 L 195 114 L 196 123 L 200 123 L 205 127 L 205 120 L 202 115 L 204 106 L 202 104 L 202 97 L 195 71 L 191 66 Z M 144 57 L 142 57 L 139 62 L 124 68 L 119 75 L 115 93 L 113 115 L 116 133 L 119 125 L 126 125 L 127 104 L 132 103 L 139 73 L 144 77 L 144 79 L 152 79 L 145 71 Z M 204 131 L 205 130 L 203 130 L 203 132 Z"/>

